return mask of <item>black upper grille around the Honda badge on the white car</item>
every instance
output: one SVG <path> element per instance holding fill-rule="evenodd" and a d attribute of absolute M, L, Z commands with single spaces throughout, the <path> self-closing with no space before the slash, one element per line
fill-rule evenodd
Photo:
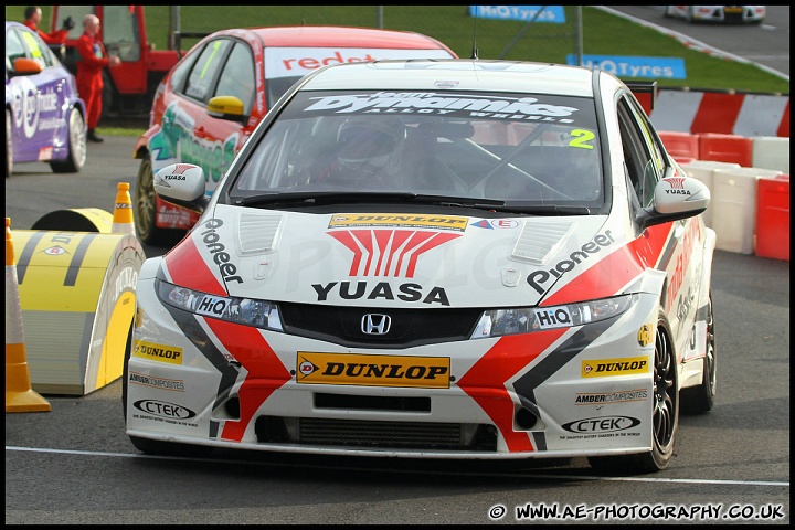
<path fill-rule="evenodd" d="M 407 348 L 421 344 L 468 340 L 483 309 L 398 309 L 374 307 L 279 304 L 285 331 L 299 337 L 341 346 Z M 392 327 L 385 335 L 365 335 L 364 315 L 388 315 Z"/>

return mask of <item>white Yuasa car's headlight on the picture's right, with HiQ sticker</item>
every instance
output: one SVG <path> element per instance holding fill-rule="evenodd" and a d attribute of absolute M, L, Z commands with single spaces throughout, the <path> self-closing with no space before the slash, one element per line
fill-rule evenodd
<path fill-rule="evenodd" d="M 626 311 L 635 295 L 581 301 L 553 307 L 511 307 L 484 311 L 470 339 L 532 333 L 598 322 Z"/>

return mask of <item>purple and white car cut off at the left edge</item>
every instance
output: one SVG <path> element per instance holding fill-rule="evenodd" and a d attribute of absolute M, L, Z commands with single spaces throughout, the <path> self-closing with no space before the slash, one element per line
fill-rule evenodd
<path fill-rule="evenodd" d="M 85 104 L 74 76 L 36 33 L 6 21 L 6 177 L 14 162 L 75 173 L 85 160 Z"/>

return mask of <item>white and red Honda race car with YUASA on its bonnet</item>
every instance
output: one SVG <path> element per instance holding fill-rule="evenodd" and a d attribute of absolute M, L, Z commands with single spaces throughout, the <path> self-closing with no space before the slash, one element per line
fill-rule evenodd
<path fill-rule="evenodd" d="M 601 70 L 377 61 L 307 74 L 145 262 L 132 444 L 665 468 L 716 395 L 716 233 Z"/>

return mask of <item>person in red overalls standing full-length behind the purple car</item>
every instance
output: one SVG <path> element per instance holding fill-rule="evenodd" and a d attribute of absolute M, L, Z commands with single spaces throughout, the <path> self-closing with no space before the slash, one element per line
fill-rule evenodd
<path fill-rule="evenodd" d="M 86 14 L 83 18 L 83 34 L 77 39 L 77 93 L 86 104 L 86 124 L 88 125 L 89 141 L 104 141 L 96 136 L 96 126 L 102 115 L 102 89 L 104 86 L 102 71 L 105 66 L 118 66 L 118 57 L 108 57 L 105 46 L 98 36 L 99 18 Z"/>

